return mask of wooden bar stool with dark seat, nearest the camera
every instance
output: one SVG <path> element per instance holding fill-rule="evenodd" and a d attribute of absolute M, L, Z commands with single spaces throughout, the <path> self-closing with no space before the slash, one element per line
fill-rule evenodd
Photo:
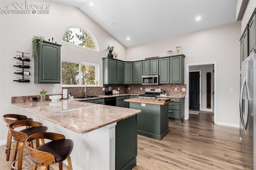
<path fill-rule="evenodd" d="M 52 141 L 47 142 L 34 149 L 29 146 L 32 140 L 36 139 L 50 139 Z M 41 132 L 32 134 L 26 139 L 26 147 L 28 148 L 28 154 L 32 157 L 34 162 L 33 170 L 36 170 L 37 164 L 41 166 L 41 170 L 46 170 L 47 166 L 56 164 L 59 162 L 59 169 L 62 170 L 62 161 L 68 161 L 68 169 L 72 170 L 70 154 L 73 149 L 73 141 L 66 139 L 63 134 L 52 132 Z"/>

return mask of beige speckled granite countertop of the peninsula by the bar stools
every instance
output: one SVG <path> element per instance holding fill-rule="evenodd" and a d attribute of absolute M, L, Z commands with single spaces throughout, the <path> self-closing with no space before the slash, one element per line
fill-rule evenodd
<path fill-rule="evenodd" d="M 12 103 L 12 105 L 78 133 L 90 132 L 141 113 L 137 109 L 98 105 L 72 99 Z"/>

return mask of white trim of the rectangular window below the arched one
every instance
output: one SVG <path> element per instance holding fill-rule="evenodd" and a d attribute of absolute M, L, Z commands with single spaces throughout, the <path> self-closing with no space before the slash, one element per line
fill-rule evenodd
<path fill-rule="evenodd" d="M 82 80 L 81 80 L 81 64 L 83 65 L 90 65 L 90 66 L 94 66 L 95 67 L 95 80 L 99 80 L 100 79 L 100 65 L 99 64 L 93 64 L 93 63 L 86 63 L 86 62 L 82 62 L 82 61 L 75 61 L 75 60 L 71 60 L 71 59 L 61 59 L 61 63 L 62 62 L 68 62 L 68 63 L 75 63 L 75 64 L 79 64 L 79 85 L 63 85 L 61 84 L 61 87 L 98 87 L 95 84 L 94 85 L 82 85 Z M 61 66 L 62 68 L 62 66 Z M 62 73 L 62 71 L 61 71 Z M 61 74 L 61 83 L 62 83 L 62 74 Z"/>

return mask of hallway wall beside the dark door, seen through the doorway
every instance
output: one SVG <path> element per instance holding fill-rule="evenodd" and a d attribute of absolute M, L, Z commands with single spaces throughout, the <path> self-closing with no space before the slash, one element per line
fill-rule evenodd
<path fill-rule="evenodd" d="M 207 99 L 207 89 L 206 89 L 206 82 L 207 82 L 207 77 L 206 77 L 206 73 L 211 73 L 211 94 L 212 94 L 212 87 L 213 87 L 213 74 L 212 74 L 212 70 L 213 70 L 213 66 L 212 65 L 198 65 L 198 66 L 190 66 L 189 67 L 189 71 L 195 71 L 195 70 L 201 70 L 201 110 L 208 110 L 207 109 L 207 103 L 206 103 L 206 99 Z M 212 110 L 212 95 L 211 95 L 211 108 L 210 110 Z"/>

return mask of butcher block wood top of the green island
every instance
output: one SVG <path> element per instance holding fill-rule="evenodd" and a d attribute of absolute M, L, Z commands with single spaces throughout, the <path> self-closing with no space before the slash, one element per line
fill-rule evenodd
<path fill-rule="evenodd" d="M 127 102 L 134 102 L 134 103 L 148 103 L 154 105 L 166 105 L 172 102 L 172 98 L 156 98 L 156 99 L 144 99 L 144 98 L 133 98 L 133 99 L 125 99 L 124 101 Z"/>

